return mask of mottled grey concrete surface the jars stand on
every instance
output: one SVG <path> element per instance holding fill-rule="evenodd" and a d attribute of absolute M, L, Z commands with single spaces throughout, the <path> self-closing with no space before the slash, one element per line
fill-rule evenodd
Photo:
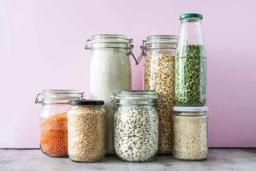
<path fill-rule="evenodd" d="M 209 149 L 206 161 L 187 162 L 157 156 L 152 162 L 123 162 L 107 156 L 97 163 L 51 158 L 40 150 L 0 149 L 0 171 L 256 171 L 256 149 Z"/>

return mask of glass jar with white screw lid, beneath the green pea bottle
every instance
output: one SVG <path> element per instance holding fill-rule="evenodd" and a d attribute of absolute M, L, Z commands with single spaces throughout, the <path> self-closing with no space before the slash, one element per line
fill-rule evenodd
<path fill-rule="evenodd" d="M 173 157 L 201 161 L 208 156 L 208 107 L 173 107 Z"/>

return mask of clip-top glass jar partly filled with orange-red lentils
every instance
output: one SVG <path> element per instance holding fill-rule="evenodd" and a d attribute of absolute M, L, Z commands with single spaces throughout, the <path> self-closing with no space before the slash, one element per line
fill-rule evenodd
<path fill-rule="evenodd" d="M 38 100 L 41 95 L 42 101 Z M 42 104 L 40 112 L 40 149 L 50 157 L 67 157 L 68 101 L 83 97 L 78 90 L 43 90 L 35 103 Z"/>

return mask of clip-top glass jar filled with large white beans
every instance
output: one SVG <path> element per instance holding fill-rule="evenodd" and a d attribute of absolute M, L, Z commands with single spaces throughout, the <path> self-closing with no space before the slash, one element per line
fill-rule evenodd
<path fill-rule="evenodd" d="M 114 149 L 119 159 L 147 162 L 158 150 L 156 91 L 118 91 L 112 93 L 114 115 Z M 161 97 L 161 95 L 159 95 Z M 159 104 L 163 104 L 163 99 Z"/>

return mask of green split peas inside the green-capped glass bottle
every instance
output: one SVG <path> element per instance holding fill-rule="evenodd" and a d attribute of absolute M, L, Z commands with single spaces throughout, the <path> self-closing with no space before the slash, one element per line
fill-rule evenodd
<path fill-rule="evenodd" d="M 176 53 L 176 105 L 203 106 L 206 102 L 204 45 L 187 45 Z"/>

